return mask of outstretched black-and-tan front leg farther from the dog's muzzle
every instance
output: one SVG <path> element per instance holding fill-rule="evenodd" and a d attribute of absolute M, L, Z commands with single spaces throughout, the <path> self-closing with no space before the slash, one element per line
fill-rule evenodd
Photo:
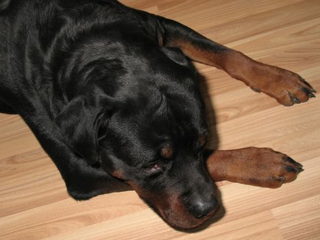
<path fill-rule="evenodd" d="M 191 60 L 223 69 L 252 90 L 266 93 L 284 106 L 315 97 L 312 86 L 296 73 L 252 60 L 175 21 L 160 16 L 158 20 L 164 27 L 164 45 L 180 48 Z"/>

